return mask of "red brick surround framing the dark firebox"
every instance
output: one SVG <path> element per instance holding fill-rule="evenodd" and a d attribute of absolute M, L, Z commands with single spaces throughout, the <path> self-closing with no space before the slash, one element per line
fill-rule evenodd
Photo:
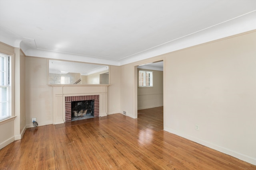
<path fill-rule="evenodd" d="M 99 117 L 100 113 L 100 95 L 89 95 L 89 96 L 66 96 L 65 97 L 65 120 L 66 122 L 71 121 L 71 102 L 94 100 L 94 117 Z"/>

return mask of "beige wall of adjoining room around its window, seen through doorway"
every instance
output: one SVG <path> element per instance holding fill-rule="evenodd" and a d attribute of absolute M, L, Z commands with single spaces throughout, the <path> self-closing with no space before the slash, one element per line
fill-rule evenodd
<path fill-rule="evenodd" d="M 146 69 L 138 69 L 146 70 Z M 163 106 L 163 72 L 150 70 L 153 72 L 153 87 L 138 87 L 138 110 Z M 137 72 L 137 74 L 138 74 Z"/>

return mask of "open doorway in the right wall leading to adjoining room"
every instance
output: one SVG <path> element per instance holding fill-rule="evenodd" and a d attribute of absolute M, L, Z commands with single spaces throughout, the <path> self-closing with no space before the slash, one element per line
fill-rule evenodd
<path fill-rule="evenodd" d="M 137 98 L 137 117 L 143 117 L 148 114 L 152 119 L 152 111 L 158 111 L 157 117 L 162 117 L 163 125 L 163 108 L 164 108 L 164 62 L 157 61 L 154 63 L 142 64 L 135 67 L 134 70 Z M 150 114 L 149 114 L 150 113 Z M 159 120 L 158 120 L 159 121 Z M 162 127 L 163 128 L 163 127 Z"/>

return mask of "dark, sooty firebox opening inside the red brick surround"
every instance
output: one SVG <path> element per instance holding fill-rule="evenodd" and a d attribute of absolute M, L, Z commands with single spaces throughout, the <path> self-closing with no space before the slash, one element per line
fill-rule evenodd
<path fill-rule="evenodd" d="M 71 121 L 94 117 L 94 100 L 71 102 Z"/>

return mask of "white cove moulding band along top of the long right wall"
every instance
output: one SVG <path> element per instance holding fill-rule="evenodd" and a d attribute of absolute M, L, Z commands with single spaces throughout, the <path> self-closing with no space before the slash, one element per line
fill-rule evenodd
<path fill-rule="evenodd" d="M 226 39 L 230 36 L 236 36 L 247 31 L 256 29 L 256 10 L 244 14 L 242 16 L 233 18 L 217 25 L 190 33 L 183 37 L 168 41 L 151 49 L 138 52 L 136 54 L 124 57 L 119 60 L 118 66 L 141 61 L 158 55 L 178 51 L 196 45 L 202 45 L 220 39 Z M 100 61 L 98 62 L 100 63 Z M 113 62 L 114 65 L 115 63 Z"/>

